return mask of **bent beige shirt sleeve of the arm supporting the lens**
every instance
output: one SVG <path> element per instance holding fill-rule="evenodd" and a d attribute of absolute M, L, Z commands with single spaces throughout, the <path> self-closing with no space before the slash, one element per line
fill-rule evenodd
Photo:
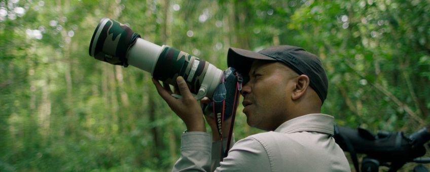
<path fill-rule="evenodd" d="M 210 142 L 211 139 L 208 133 L 189 132 L 183 134 L 181 138 L 181 157 L 176 161 L 172 171 L 212 171 L 214 167 L 218 166 L 216 161 L 219 161 L 221 142 L 214 142 L 213 148 Z M 259 141 L 250 137 L 235 143 L 228 156 L 214 169 L 214 171 L 270 170 L 269 155 L 266 149 Z"/>

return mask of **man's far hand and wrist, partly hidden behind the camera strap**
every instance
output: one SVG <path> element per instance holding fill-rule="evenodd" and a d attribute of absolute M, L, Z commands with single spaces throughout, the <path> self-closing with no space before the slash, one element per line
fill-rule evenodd
<path fill-rule="evenodd" d="M 212 103 L 209 98 L 204 97 L 200 100 L 201 104 L 209 104 Z M 209 124 L 211 130 L 212 130 L 212 141 L 219 141 L 221 140 L 220 134 L 218 133 L 217 128 L 217 122 L 215 121 L 215 118 L 213 116 L 213 113 L 204 115 L 204 118 L 206 119 L 207 123 Z M 223 123 L 223 138 L 227 138 L 230 130 L 230 124 L 231 124 L 231 117 L 224 120 Z"/>

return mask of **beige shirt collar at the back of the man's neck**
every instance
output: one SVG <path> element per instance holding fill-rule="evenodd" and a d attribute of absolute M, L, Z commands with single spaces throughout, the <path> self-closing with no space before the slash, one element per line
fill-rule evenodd
<path fill-rule="evenodd" d="M 319 132 L 333 135 L 334 117 L 321 113 L 307 114 L 285 121 L 276 128 L 278 133 Z"/>

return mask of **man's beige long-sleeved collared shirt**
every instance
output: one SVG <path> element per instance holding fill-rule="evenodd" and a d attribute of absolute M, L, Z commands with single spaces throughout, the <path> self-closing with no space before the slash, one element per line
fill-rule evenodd
<path fill-rule="evenodd" d="M 308 114 L 239 140 L 218 163 L 220 143 L 212 147 L 208 133 L 189 132 L 173 171 L 350 171 L 332 136 L 332 116 Z"/>

